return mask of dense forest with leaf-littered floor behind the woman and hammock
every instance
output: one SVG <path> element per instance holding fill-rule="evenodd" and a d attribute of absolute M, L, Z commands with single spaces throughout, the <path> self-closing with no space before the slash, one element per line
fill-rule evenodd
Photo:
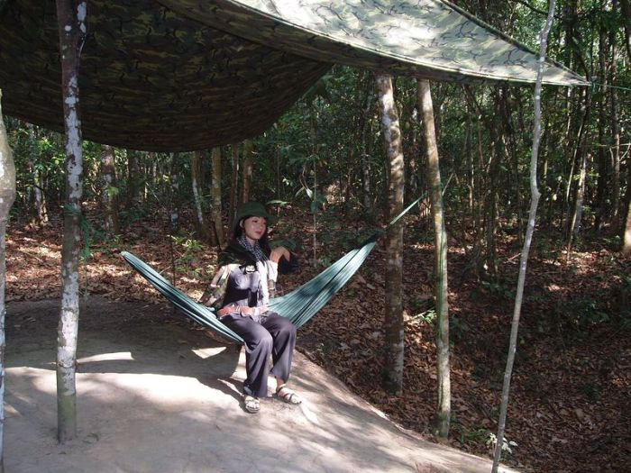
<path fill-rule="evenodd" d="M 536 49 L 544 2 L 456 2 Z M 533 471 L 622 471 L 631 459 L 631 10 L 628 0 L 559 2 L 548 55 L 595 85 L 544 87 L 542 199 L 526 279 L 506 459 Z M 453 419 L 450 441 L 489 453 L 497 430 L 518 260 L 529 206 L 530 87 L 432 83 L 449 235 Z M 426 196 L 416 83 L 395 78 L 406 201 Z M 238 106 L 238 104 L 226 104 Z M 59 297 L 63 137 L 5 117 L 18 198 L 7 241 L 7 298 Z M 162 154 L 84 142 L 84 296 L 158 300 L 142 280 L 114 283 L 131 250 L 198 296 L 235 205 L 282 217 L 274 240 L 306 281 L 383 226 L 388 163 L 374 76 L 334 68 L 251 141 Z M 384 258 L 301 332 L 300 350 L 393 419 L 432 437 L 435 413 L 433 223 L 428 198 L 405 223 L 404 389 L 382 360 Z M 631 233 L 627 238 L 631 238 Z M 629 245 L 626 247 L 626 245 Z M 115 279 L 119 281 L 119 279 Z"/>

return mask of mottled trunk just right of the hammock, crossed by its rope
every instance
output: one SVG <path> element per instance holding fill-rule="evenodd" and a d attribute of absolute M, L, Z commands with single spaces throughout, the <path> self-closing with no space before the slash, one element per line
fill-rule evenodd
<path fill-rule="evenodd" d="M 394 217 L 403 211 L 403 190 L 406 185 L 401 147 L 401 131 L 394 102 L 392 78 L 376 77 L 380 97 L 381 130 L 389 164 L 388 214 Z M 389 219 L 388 219 L 389 220 Z M 386 314 L 383 387 L 392 395 L 403 394 L 405 333 L 403 323 L 403 223 L 390 225 L 386 233 Z"/>

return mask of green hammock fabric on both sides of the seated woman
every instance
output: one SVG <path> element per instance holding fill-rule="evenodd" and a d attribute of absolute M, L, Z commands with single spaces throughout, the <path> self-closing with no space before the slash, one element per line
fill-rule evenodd
<path fill-rule="evenodd" d="M 324 307 L 357 272 L 361 263 L 368 258 L 370 251 L 375 247 L 376 237 L 377 235 L 374 235 L 361 248 L 346 253 L 341 259 L 335 261 L 334 264 L 303 286 L 285 296 L 271 299 L 268 306 L 274 312 L 287 317 L 297 327 L 301 327 Z M 167 297 L 182 313 L 225 338 L 243 344 L 243 339 L 238 334 L 217 319 L 215 309 L 195 302 L 132 253 L 123 251 L 122 255 L 132 268 L 158 289 L 162 296 Z"/>

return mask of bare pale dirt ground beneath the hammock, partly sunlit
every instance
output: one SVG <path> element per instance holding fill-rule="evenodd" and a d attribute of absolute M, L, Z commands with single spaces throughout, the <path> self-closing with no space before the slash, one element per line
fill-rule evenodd
<path fill-rule="evenodd" d="M 58 320 L 59 300 L 8 305 L 8 472 L 490 471 L 489 459 L 401 429 L 299 353 L 303 405 L 270 396 L 247 414 L 241 350 L 169 305 L 102 296 L 81 306 L 78 437 L 59 445 Z"/>

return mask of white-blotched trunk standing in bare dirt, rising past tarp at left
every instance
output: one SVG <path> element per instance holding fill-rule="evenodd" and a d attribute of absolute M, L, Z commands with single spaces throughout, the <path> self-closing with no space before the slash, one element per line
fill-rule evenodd
<path fill-rule="evenodd" d="M 77 333 L 79 315 L 78 263 L 81 250 L 83 154 L 78 69 L 86 39 L 87 3 L 57 0 L 61 90 L 66 131 L 66 208 L 61 250 L 61 315 L 57 347 L 57 418 L 60 443 L 77 435 Z"/>

